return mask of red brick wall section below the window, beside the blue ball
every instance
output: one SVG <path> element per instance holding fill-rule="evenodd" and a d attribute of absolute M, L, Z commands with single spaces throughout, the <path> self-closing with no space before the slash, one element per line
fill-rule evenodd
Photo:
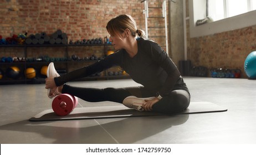
<path fill-rule="evenodd" d="M 247 55 L 256 50 L 256 26 L 191 38 L 188 59 L 194 66 L 240 69 L 244 73 Z"/>

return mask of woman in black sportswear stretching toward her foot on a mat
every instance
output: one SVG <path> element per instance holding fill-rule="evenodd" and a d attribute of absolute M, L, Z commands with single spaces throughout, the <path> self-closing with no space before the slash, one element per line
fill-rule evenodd
<path fill-rule="evenodd" d="M 89 102 L 119 102 L 139 111 L 172 114 L 186 110 L 190 104 L 190 92 L 180 71 L 158 44 L 145 39 L 145 32 L 137 29 L 135 20 L 122 14 L 112 18 L 106 29 L 110 34 L 109 41 L 118 51 L 62 76 L 58 75 L 51 63 L 48 67 L 49 77 L 45 79 L 48 96 L 67 93 Z M 95 89 L 65 84 L 117 65 L 142 86 Z"/>

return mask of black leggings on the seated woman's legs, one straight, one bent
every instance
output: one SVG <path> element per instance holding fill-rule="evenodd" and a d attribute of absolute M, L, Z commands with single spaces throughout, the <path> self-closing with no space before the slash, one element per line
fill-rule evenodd
<path fill-rule="evenodd" d="M 145 89 L 143 86 L 105 89 L 74 87 L 64 85 L 62 93 L 74 95 L 88 102 L 112 101 L 122 104 L 128 96 L 152 97 L 155 93 Z M 190 105 L 190 94 L 185 90 L 173 90 L 168 96 L 163 97 L 152 106 L 154 112 L 177 113 L 186 110 Z"/>

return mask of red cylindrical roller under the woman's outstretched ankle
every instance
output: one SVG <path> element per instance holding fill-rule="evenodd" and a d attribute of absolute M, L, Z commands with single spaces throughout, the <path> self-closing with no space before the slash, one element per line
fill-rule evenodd
<path fill-rule="evenodd" d="M 60 116 L 68 115 L 78 105 L 78 97 L 69 94 L 56 96 L 52 102 L 53 111 Z"/>

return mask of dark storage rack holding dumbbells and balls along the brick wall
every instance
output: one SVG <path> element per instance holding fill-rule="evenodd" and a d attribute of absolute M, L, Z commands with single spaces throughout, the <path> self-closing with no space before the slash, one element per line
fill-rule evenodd
<path fill-rule="evenodd" d="M 80 67 L 83 67 L 85 65 L 90 65 L 95 63 L 98 60 L 72 60 L 70 57 L 72 55 L 72 53 L 76 53 L 75 48 L 101 48 L 101 51 L 98 52 L 98 54 L 101 52 L 102 55 L 106 55 L 106 51 L 108 50 L 108 48 L 111 48 L 110 45 L 108 44 L 37 44 L 37 45 L 33 45 L 33 44 L 23 44 L 23 45 L 0 45 L 0 57 L 2 58 L 3 56 L 8 56 L 5 55 L 6 50 L 4 50 L 4 48 L 7 48 L 9 50 L 9 48 L 13 48 L 13 49 L 19 49 L 21 48 L 21 50 L 14 50 L 12 51 L 12 53 L 17 53 L 19 55 L 19 57 L 24 57 L 26 59 L 26 61 L 18 61 L 18 62 L 0 62 L 0 69 L 2 69 L 3 73 L 5 73 L 6 69 L 9 66 L 18 66 L 19 68 L 21 68 L 21 77 L 19 77 L 18 79 L 9 79 L 8 77 L 6 77 L 5 75 L 3 75 L 3 78 L 0 79 L 0 85 L 4 85 L 4 84 L 38 84 L 38 83 L 43 83 L 45 77 L 40 76 L 40 70 L 39 68 L 41 68 L 43 65 L 48 65 L 50 63 L 49 61 L 29 61 L 30 58 L 32 57 L 38 57 L 38 56 L 42 56 L 40 55 L 40 52 L 38 52 L 39 50 L 44 50 L 44 48 L 56 48 L 60 50 L 59 52 L 59 56 L 60 53 L 62 55 L 61 58 L 65 58 L 65 60 L 63 61 L 53 61 L 55 64 L 55 68 L 58 70 L 66 70 L 66 73 L 74 70 L 74 69 L 78 69 Z M 62 49 L 63 48 L 63 49 Z M 33 50 L 37 50 L 37 51 L 33 51 Z M 58 53 L 57 52 L 57 53 Z M 89 53 L 92 54 L 95 51 L 84 51 L 85 53 Z M 43 53 L 43 51 L 41 52 L 41 54 Z M 21 56 L 22 55 L 22 56 Z M 32 56 L 34 55 L 34 56 Z M 11 55 L 10 55 L 11 56 Z M 103 56 L 103 57 L 104 57 Z M 34 79 L 27 79 L 24 75 L 24 70 L 29 68 L 29 67 L 33 67 L 35 68 L 35 70 L 37 70 L 37 77 Z M 113 68 L 109 69 L 109 70 L 113 70 Z M 109 75 L 108 72 L 109 70 L 105 70 L 101 73 L 101 75 L 95 75 L 95 76 L 89 76 L 89 77 L 84 77 L 75 81 L 85 81 L 85 80 L 110 80 L 110 79 L 129 79 L 130 76 L 129 75 Z M 61 73 L 60 73 L 61 74 Z"/>

